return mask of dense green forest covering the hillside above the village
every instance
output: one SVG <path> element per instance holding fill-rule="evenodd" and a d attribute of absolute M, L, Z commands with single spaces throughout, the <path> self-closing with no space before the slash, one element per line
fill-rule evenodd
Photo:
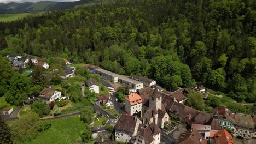
<path fill-rule="evenodd" d="M 0 54 L 28 53 L 255 102 L 256 1 L 112 1 L 0 23 Z"/>

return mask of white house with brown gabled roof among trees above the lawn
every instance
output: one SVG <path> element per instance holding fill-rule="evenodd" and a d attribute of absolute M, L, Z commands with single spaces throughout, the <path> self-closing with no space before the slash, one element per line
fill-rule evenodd
<path fill-rule="evenodd" d="M 51 87 L 45 87 L 39 94 L 39 97 L 47 104 L 51 101 L 61 99 L 61 92 Z"/>

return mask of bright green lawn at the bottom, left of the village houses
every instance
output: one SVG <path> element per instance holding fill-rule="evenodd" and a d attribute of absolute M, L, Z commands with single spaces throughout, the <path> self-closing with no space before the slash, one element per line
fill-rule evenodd
<path fill-rule="evenodd" d="M 74 143 L 80 140 L 80 134 L 85 130 L 85 124 L 78 116 L 61 118 L 51 121 L 51 127 L 40 133 L 33 143 Z"/>

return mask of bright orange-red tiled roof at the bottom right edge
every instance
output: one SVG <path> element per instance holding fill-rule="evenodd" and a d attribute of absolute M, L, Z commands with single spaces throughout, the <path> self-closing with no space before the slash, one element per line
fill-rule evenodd
<path fill-rule="evenodd" d="M 225 129 L 222 129 L 218 131 L 216 134 L 214 134 L 215 143 L 219 144 L 234 144 L 234 140 L 231 134 L 229 134 L 228 131 Z"/>

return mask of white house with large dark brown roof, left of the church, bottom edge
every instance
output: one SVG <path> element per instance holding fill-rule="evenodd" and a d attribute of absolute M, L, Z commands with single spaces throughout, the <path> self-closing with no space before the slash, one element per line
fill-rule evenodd
<path fill-rule="evenodd" d="M 141 121 L 137 117 L 122 115 L 115 124 L 115 140 L 129 142 L 136 136 Z"/>

